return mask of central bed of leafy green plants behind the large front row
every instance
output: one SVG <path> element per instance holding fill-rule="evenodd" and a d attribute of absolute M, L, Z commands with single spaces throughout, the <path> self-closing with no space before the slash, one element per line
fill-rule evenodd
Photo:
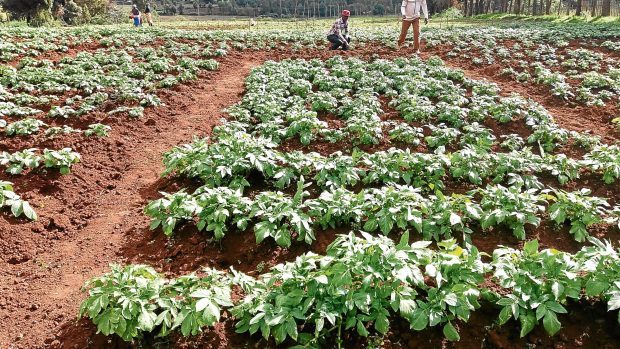
<path fill-rule="evenodd" d="M 372 76 L 371 81 L 366 81 L 367 76 Z M 151 228 L 161 226 L 166 235 L 172 235 L 178 224 L 193 221 L 199 230 L 212 231 L 220 239 L 231 226 L 242 231 L 251 227 L 257 242 L 272 238 L 281 246 L 295 239 L 311 243 L 317 226 L 351 225 L 386 235 L 414 228 L 434 240 L 454 233 L 468 239 L 477 225 L 485 230 L 499 226 L 524 240 L 526 225 L 538 226 L 553 205 L 549 218 L 558 225 L 571 224 L 575 239 L 583 241 L 588 228 L 612 216 L 605 199 L 585 192 L 542 190 L 545 186 L 537 175 L 551 174 L 563 185 L 590 170 L 602 172 L 613 183 L 617 146 L 559 128 L 539 105 L 518 96 L 498 97 L 497 86 L 466 79 L 462 72 L 445 68 L 441 60 L 364 63 L 333 58 L 266 63 L 250 74 L 247 85 L 248 94 L 229 110 L 233 120 L 216 127 L 211 139 L 195 139 L 165 154 L 164 175 L 195 177 L 205 185 L 193 194 L 181 190 L 151 201 L 145 209 L 152 218 Z M 473 97 L 466 96 L 467 89 Z M 342 135 L 342 130 L 350 130 L 352 118 L 365 113 L 371 116 L 364 124 L 372 125 L 369 120 L 382 109 L 380 93 L 398 96 L 390 104 L 406 106 L 400 110 L 410 113 L 403 117 L 408 118 L 405 121 L 439 123 L 425 125 L 430 133 L 424 137 L 424 130 L 408 123 L 386 122 L 393 126 L 390 137 L 404 137 L 411 144 L 424 137 L 434 153 L 390 148 L 325 156 L 278 150 L 293 135 L 300 135 L 302 142 L 311 142 L 321 132 Z M 486 104 L 474 108 L 469 98 L 476 105 Z M 462 113 L 462 105 L 471 109 Z M 417 114 L 429 108 L 436 112 Z M 344 126 L 325 129 L 326 122 L 319 119 L 325 112 L 337 114 Z M 518 135 L 502 142 L 511 151 L 495 152 L 493 132 L 480 123 L 489 117 L 500 123 L 523 119 L 533 130 L 527 141 L 539 145 L 540 155 L 525 147 L 526 140 Z M 297 127 L 308 123 L 316 127 L 308 132 Z M 357 136 L 363 138 L 361 133 Z M 583 160 L 551 152 L 569 137 L 590 149 Z M 446 150 L 455 143 L 460 148 Z M 256 179 L 284 192 L 290 192 L 295 183 L 298 187 L 295 195 L 263 190 L 244 196 L 245 188 Z M 320 191 L 310 196 L 304 179 Z M 478 189 L 446 195 L 442 191 L 447 179 L 465 180 Z M 364 187 L 355 192 L 347 189 L 358 185 Z"/>

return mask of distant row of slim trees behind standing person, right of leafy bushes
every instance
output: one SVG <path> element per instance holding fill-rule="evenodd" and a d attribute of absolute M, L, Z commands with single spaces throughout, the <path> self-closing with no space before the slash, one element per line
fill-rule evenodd
<path fill-rule="evenodd" d="M 124 3 L 130 3 L 126 0 Z M 144 2 L 145 0 L 137 0 Z M 399 15 L 401 0 L 156 0 L 158 12 L 166 15 L 241 15 L 270 17 L 335 17 L 343 9 L 352 15 Z M 620 14 L 620 0 L 427 0 L 429 12 L 448 8 L 464 16 L 491 13 L 515 15 Z"/>

